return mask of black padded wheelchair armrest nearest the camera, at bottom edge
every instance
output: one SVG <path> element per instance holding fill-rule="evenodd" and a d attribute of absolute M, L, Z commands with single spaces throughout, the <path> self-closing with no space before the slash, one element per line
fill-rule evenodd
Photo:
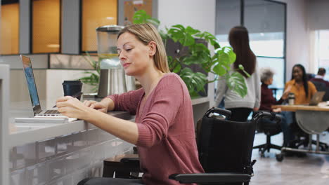
<path fill-rule="evenodd" d="M 181 184 L 207 184 L 250 181 L 250 174 L 238 173 L 200 173 L 200 174 L 171 174 L 169 179 L 179 181 Z"/>

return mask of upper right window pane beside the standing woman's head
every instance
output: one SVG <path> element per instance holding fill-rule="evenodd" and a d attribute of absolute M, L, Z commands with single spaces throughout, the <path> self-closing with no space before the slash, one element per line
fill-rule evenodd
<path fill-rule="evenodd" d="M 257 56 L 284 57 L 285 6 L 273 1 L 245 1 L 245 27 Z"/>

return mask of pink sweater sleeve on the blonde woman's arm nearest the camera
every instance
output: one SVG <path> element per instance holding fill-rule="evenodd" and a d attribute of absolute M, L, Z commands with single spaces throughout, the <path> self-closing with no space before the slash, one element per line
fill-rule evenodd
<path fill-rule="evenodd" d="M 141 123 L 137 123 L 137 146 L 151 147 L 167 137 L 168 129 L 183 104 L 182 83 L 176 76 L 167 76 L 159 82 L 150 97 L 150 106 L 144 107 L 148 112 Z"/>

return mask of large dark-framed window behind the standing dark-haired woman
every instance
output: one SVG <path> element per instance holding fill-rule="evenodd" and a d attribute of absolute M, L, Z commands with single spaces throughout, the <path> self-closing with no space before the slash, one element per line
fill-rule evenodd
<path fill-rule="evenodd" d="M 271 67 L 276 74 L 269 88 L 285 85 L 285 4 L 266 0 L 217 0 L 216 37 L 221 47 L 230 46 L 228 32 L 237 25 L 247 27 L 250 48 L 258 67 Z M 260 82 L 259 82 L 260 83 Z"/>

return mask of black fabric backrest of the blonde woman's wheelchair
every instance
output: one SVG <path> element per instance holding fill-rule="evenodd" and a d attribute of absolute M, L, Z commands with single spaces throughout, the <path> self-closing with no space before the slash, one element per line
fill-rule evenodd
<path fill-rule="evenodd" d="M 251 174 L 255 128 L 254 121 L 227 121 L 206 114 L 202 118 L 197 141 L 200 163 L 205 172 Z"/>

